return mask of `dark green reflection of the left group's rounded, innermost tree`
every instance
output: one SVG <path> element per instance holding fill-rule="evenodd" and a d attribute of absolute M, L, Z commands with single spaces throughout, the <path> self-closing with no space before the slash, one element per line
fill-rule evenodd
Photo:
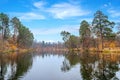
<path fill-rule="evenodd" d="M 20 76 L 23 76 L 32 65 L 32 56 L 23 54 L 16 59 L 16 72 L 12 75 L 11 80 L 17 80 Z M 14 67 L 14 66 L 12 66 Z"/>

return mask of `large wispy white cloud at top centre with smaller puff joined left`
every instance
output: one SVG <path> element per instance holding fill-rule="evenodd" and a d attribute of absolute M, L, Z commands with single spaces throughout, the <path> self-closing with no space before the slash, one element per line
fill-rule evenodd
<path fill-rule="evenodd" d="M 69 17 L 84 16 L 90 13 L 80 7 L 80 4 L 77 3 L 57 3 L 52 4 L 50 7 L 47 6 L 47 2 L 39 1 L 33 3 L 33 6 L 36 7 L 36 11 L 42 11 L 44 13 L 52 15 L 56 19 L 65 19 Z"/>

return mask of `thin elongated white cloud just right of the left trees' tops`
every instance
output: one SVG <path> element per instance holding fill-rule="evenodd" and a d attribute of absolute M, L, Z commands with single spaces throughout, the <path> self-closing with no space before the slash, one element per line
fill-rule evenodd
<path fill-rule="evenodd" d="M 37 14 L 34 12 L 27 12 L 27 13 L 21 13 L 18 15 L 21 20 L 41 20 L 45 19 L 45 17 L 41 14 Z"/>

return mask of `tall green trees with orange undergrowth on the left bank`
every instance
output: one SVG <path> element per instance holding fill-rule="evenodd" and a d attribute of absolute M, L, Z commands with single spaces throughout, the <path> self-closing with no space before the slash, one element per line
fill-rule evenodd
<path fill-rule="evenodd" d="M 0 51 L 30 48 L 34 36 L 17 17 L 0 13 Z"/>

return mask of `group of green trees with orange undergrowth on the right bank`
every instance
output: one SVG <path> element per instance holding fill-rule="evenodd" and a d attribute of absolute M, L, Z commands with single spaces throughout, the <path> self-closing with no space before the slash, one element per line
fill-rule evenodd
<path fill-rule="evenodd" d="M 117 32 L 113 28 L 117 26 Z M 120 47 L 120 28 L 111 22 L 102 11 L 96 11 L 92 23 L 80 23 L 79 36 L 62 31 L 61 36 L 68 49 L 115 49 Z"/>

